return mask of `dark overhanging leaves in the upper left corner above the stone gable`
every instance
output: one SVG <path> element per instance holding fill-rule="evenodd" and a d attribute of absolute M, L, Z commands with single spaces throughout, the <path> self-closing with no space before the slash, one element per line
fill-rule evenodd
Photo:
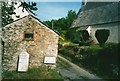
<path fill-rule="evenodd" d="M 16 15 L 14 12 L 15 10 L 15 5 L 16 2 L 1 2 L 1 15 L 2 15 L 2 26 L 4 27 L 5 25 L 12 23 L 14 20 L 12 18 L 12 15 Z M 23 12 L 26 9 L 27 11 L 31 12 L 34 14 L 32 11 L 37 10 L 36 3 L 35 2 L 21 2 L 20 6 L 23 8 Z M 35 15 L 35 14 L 34 14 Z M 16 15 L 16 17 L 19 17 Z"/>

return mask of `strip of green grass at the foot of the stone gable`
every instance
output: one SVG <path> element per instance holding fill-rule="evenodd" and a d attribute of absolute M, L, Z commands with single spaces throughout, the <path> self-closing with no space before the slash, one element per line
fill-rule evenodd
<path fill-rule="evenodd" d="M 4 72 L 3 79 L 61 79 L 61 76 L 56 70 L 43 66 L 29 69 L 27 72 Z"/>

